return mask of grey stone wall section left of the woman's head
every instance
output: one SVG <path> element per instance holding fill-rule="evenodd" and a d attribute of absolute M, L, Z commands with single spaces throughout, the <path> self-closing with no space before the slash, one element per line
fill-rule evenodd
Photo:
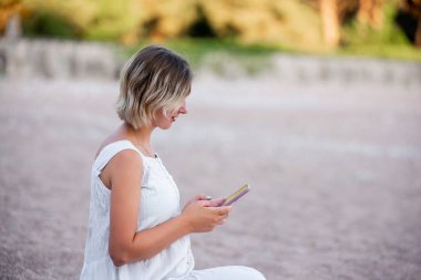
<path fill-rule="evenodd" d="M 116 79 L 116 48 L 60 40 L 1 40 L 0 72 L 8 77 Z"/>

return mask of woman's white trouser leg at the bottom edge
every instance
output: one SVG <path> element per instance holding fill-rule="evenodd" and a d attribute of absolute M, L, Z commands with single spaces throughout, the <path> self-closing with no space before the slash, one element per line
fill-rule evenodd
<path fill-rule="evenodd" d="M 265 277 L 256 269 L 229 266 L 218 267 L 204 270 L 193 270 L 183 280 L 266 280 Z"/>

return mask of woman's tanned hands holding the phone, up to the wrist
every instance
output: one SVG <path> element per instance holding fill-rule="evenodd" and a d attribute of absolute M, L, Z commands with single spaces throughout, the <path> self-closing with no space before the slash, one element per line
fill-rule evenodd
<path fill-rule="evenodd" d="M 232 206 L 220 206 L 224 198 L 208 200 L 204 195 L 196 196 L 187 203 L 182 212 L 189 232 L 208 232 L 216 226 L 223 225 Z"/>

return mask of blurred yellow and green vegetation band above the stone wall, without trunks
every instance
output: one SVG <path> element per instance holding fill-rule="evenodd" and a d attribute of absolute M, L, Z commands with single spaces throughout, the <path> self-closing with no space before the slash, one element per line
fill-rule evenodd
<path fill-rule="evenodd" d="M 210 63 L 218 69 L 229 55 L 253 73 L 275 51 L 328 52 L 317 0 L 19 1 L 29 11 L 23 17 L 27 35 L 117 41 L 136 46 L 157 41 L 184 52 L 194 65 Z M 336 53 L 419 58 L 420 52 L 394 22 L 401 0 L 384 1 L 380 29 L 358 22 L 356 1 L 339 1 L 347 20 Z"/>

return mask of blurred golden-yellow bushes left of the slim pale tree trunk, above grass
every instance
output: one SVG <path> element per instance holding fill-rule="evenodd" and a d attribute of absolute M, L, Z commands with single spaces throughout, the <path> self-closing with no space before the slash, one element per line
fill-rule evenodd
<path fill-rule="evenodd" d="M 134 43 L 143 39 L 168 40 L 187 34 L 202 37 L 201 32 L 205 32 L 210 37 L 234 38 L 248 43 L 283 43 L 295 48 L 321 44 L 317 11 L 297 0 L 23 1 L 31 17 L 57 15 L 53 20 L 60 19 L 69 23 L 69 29 L 74 29 L 70 33 L 90 40 Z M 31 30 L 37 32 L 40 29 Z"/>

